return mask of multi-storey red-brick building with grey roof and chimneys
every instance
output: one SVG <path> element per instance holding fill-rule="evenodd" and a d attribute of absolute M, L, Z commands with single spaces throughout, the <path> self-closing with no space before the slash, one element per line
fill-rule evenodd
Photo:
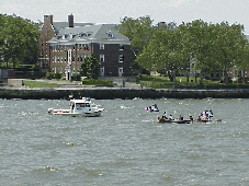
<path fill-rule="evenodd" d="M 127 77 L 131 63 L 131 40 L 115 31 L 114 24 L 53 22 L 44 15 L 41 28 L 39 63 L 43 71 L 67 75 L 78 72 L 83 59 L 94 55 L 101 62 L 102 77 Z"/>

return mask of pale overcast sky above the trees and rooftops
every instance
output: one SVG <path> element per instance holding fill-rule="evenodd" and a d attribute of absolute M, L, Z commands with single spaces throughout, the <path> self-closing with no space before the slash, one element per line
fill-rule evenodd
<path fill-rule="evenodd" d="M 3 2 L 2 2 L 3 1 Z M 124 16 L 137 19 L 149 15 L 158 22 L 177 24 L 201 19 L 205 22 L 245 25 L 249 34 L 249 0 L 1 0 L 0 13 L 16 14 L 32 21 L 44 21 L 53 14 L 54 21 L 120 23 Z"/>

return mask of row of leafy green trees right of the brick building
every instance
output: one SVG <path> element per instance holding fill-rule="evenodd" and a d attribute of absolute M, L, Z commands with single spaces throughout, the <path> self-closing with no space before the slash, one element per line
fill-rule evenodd
<path fill-rule="evenodd" d="M 178 26 L 174 22 L 152 26 L 150 16 L 126 16 L 116 28 L 133 40 L 134 65 L 167 72 L 172 82 L 179 72 L 189 74 L 192 69 L 199 71 L 201 83 L 208 73 L 224 74 L 228 83 L 231 67 L 248 68 L 248 40 L 240 24 L 195 20 Z"/>

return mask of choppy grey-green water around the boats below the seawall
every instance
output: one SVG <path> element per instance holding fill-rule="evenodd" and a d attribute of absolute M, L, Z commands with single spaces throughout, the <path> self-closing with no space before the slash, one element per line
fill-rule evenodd
<path fill-rule="evenodd" d="M 0 100 L 0 185 L 249 185 L 249 100 L 95 100 L 101 117 L 47 115 L 68 101 Z M 157 103 L 160 113 L 144 108 Z M 158 124 L 165 109 L 211 124 Z"/>

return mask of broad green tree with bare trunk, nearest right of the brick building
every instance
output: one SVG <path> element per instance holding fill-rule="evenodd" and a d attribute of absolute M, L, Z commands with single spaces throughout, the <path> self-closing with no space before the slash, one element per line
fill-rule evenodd
<path fill-rule="evenodd" d="M 138 56 L 138 63 L 149 71 L 167 70 L 176 86 L 176 75 L 189 61 L 180 30 L 156 30 L 148 46 Z"/>

